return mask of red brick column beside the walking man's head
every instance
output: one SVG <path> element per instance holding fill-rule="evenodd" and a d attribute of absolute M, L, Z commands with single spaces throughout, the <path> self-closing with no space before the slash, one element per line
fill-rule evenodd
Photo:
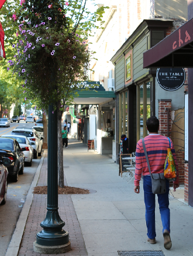
<path fill-rule="evenodd" d="M 171 137 L 171 100 L 159 100 L 158 120 L 160 121 L 159 134 Z"/>

